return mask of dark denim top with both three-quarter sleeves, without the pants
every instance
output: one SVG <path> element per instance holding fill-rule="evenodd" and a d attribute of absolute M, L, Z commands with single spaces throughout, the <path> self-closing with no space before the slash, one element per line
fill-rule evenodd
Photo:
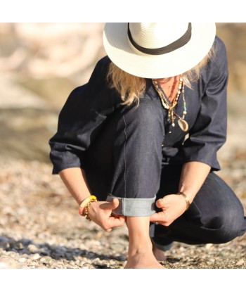
<path fill-rule="evenodd" d="M 167 122 L 167 112 L 159 101 L 159 107 L 164 111 L 162 120 L 164 124 L 163 165 L 201 161 L 211 165 L 213 170 L 220 168 L 216 152 L 226 141 L 228 70 L 226 49 L 223 42 L 217 37 L 214 48 L 216 56 L 202 70 L 200 80 L 192 82 L 191 89 L 185 88 L 186 107 L 188 108 L 186 120 L 189 125 L 189 138 L 186 141 L 184 141 L 184 137 L 187 133 L 183 132 L 177 123 L 175 127 L 172 127 Z M 49 141 L 53 174 L 57 174 L 67 167 L 83 168 L 84 158 L 87 156 L 86 151 L 96 143 L 103 127 L 108 125 L 112 116 L 117 115 L 118 110 L 125 110 L 122 109 L 119 94 L 108 86 L 106 75 L 109 63 L 108 57 L 99 61 L 89 82 L 72 91 L 61 110 L 58 132 Z M 145 100 L 159 100 L 151 80 L 146 80 L 146 82 L 147 87 L 140 107 L 146 104 Z M 183 96 L 181 94 L 176 113 L 182 115 L 182 112 Z M 145 122 L 143 118 L 141 119 L 135 123 Z M 152 124 L 152 127 L 155 125 Z M 148 141 L 142 142 L 145 146 L 148 144 Z M 98 149 L 98 155 L 101 155 L 101 151 L 104 149 Z"/>

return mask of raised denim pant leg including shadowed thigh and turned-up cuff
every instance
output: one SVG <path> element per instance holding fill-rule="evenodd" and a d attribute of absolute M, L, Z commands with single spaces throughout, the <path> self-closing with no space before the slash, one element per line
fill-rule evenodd
<path fill-rule="evenodd" d="M 103 125 L 86 155 L 86 178 L 100 201 L 119 199 L 113 212 L 149 216 L 160 186 L 164 110 L 145 96 L 138 106 L 122 106 Z"/>

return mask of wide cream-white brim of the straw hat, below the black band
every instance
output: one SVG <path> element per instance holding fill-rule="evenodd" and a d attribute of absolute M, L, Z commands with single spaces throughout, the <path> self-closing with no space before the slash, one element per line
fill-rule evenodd
<path fill-rule="evenodd" d="M 148 55 L 129 42 L 127 23 L 106 23 L 103 45 L 110 60 L 125 72 L 143 78 L 166 78 L 198 65 L 212 48 L 215 35 L 215 23 L 192 23 L 186 45 L 163 55 Z"/>

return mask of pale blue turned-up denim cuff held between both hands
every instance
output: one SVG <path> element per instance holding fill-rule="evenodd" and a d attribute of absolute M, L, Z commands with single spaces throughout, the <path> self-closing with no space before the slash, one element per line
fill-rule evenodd
<path fill-rule="evenodd" d="M 129 217 L 145 217 L 155 213 L 155 197 L 154 198 L 121 198 L 108 195 L 108 202 L 113 198 L 119 199 L 119 206 L 112 210 L 115 215 L 123 215 Z"/>

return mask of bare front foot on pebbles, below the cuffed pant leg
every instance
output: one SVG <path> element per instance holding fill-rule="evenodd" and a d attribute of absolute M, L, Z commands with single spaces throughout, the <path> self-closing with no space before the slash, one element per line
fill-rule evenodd
<path fill-rule="evenodd" d="M 124 269 L 165 269 L 152 252 L 135 253 L 127 259 Z"/>

